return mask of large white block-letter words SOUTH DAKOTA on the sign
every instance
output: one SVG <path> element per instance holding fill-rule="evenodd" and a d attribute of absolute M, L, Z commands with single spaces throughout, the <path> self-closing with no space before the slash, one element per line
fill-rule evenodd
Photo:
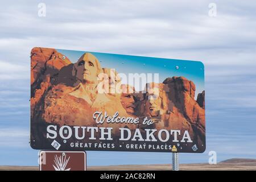
<path fill-rule="evenodd" d="M 113 140 L 112 127 L 86 127 L 86 126 L 72 126 L 75 130 L 75 138 L 77 140 L 85 139 L 85 133 L 89 133 L 89 140 L 96 140 L 96 133 L 100 133 L 99 140 Z M 47 126 L 47 135 L 49 139 L 55 139 L 59 135 L 62 139 L 69 139 L 73 136 L 73 130 L 71 126 L 61 126 L 59 131 L 57 131 L 56 125 Z M 65 130 L 65 131 L 64 131 Z M 79 136 L 79 130 L 82 130 L 82 135 Z M 119 140 L 121 141 L 140 141 L 140 142 L 167 142 L 172 140 L 172 142 L 188 142 L 192 143 L 191 137 L 187 130 L 181 133 L 180 130 L 156 130 L 156 129 L 144 129 L 146 131 L 146 136 L 142 136 L 141 130 L 136 129 L 134 134 L 131 134 L 131 130 L 127 128 L 119 128 Z M 66 136 L 64 136 L 66 135 Z M 155 135 L 157 137 L 155 137 Z M 183 135 L 182 139 L 179 141 L 178 137 Z M 172 136 L 172 139 L 171 139 Z"/>

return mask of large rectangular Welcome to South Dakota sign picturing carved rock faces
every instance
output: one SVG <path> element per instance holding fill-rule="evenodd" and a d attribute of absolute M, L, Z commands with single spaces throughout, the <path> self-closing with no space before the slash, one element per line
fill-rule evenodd
<path fill-rule="evenodd" d="M 199 61 L 31 50 L 31 147 L 204 152 Z"/>

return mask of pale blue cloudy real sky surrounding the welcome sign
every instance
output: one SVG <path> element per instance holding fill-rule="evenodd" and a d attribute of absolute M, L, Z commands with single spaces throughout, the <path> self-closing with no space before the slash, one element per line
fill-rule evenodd
<path fill-rule="evenodd" d="M 39 3 L 45 3 L 46 16 L 38 15 Z M 255 158 L 255 2 L 6 1 L 1 6 L 0 165 L 38 165 L 38 151 L 28 144 L 32 47 L 200 60 L 207 150 L 180 154 L 180 162 L 207 163 L 209 151 L 217 152 L 218 162 Z M 171 154 L 88 152 L 89 166 L 153 163 L 171 163 Z"/>

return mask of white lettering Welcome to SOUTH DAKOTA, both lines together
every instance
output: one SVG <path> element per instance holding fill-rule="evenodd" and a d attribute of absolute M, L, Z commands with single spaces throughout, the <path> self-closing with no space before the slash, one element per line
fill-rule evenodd
<path fill-rule="evenodd" d="M 93 118 L 96 120 L 96 123 L 103 124 L 106 123 L 130 123 L 130 124 L 138 124 L 139 118 L 133 117 L 118 117 L 118 112 L 116 112 L 113 116 L 109 116 L 106 112 L 102 114 L 102 112 L 96 111 L 93 114 Z M 142 124 L 143 125 L 152 125 L 154 122 L 151 119 L 144 118 Z M 72 129 L 73 127 L 73 129 Z M 189 132 L 187 130 L 181 133 L 180 130 L 156 130 L 156 129 L 144 129 L 145 134 L 142 135 L 140 129 L 135 129 L 134 132 L 131 132 L 129 128 L 119 127 L 119 140 L 120 141 L 139 141 L 139 142 L 167 142 L 172 140 L 172 142 L 189 142 L 192 143 L 191 137 L 189 136 Z M 69 139 L 73 136 L 73 132 L 75 132 L 75 138 L 77 140 L 85 139 L 85 136 L 90 136 L 89 140 L 113 140 L 112 136 L 113 127 L 92 127 L 92 126 L 61 126 L 59 131 L 57 131 L 56 125 L 47 126 L 47 138 L 55 139 L 59 134 L 62 139 Z M 82 135 L 81 135 L 82 133 Z M 96 134 L 97 133 L 97 134 Z M 79 135 L 80 134 L 80 135 Z M 182 135 L 182 139 L 179 141 Z M 100 136 L 100 138 L 96 138 L 96 136 Z M 172 137 L 172 138 L 171 138 Z"/>

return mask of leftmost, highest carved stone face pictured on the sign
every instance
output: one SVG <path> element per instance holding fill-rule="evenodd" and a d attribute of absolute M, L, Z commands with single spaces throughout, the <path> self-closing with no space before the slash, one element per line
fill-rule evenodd
<path fill-rule="evenodd" d="M 85 53 L 76 63 L 77 78 L 89 83 L 97 83 L 97 76 L 100 71 L 100 64 L 95 56 Z"/>

